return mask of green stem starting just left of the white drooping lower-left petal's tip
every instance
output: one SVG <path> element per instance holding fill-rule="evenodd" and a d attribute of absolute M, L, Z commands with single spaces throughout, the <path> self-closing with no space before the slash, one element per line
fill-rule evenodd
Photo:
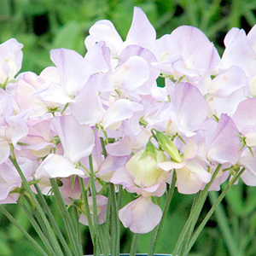
<path fill-rule="evenodd" d="M 65 240 L 65 238 L 63 237 L 63 235 L 61 233 L 59 225 L 56 223 L 55 218 L 54 218 L 52 212 L 50 211 L 47 202 L 45 201 L 45 198 L 44 198 L 44 195 L 42 194 L 41 189 L 39 188 L 37 183 L 34 184 L 34 187 L 38 192 L 38 200 L 40 201 L 42 208 L 44 209 L 44 212 L 46 212 L 46 214 L 48 215 L 49 221 L 53 225 L 53 227 L 57 233 L 57 236 L 59 237 L 59 239 L 61 241 L 61 245 L 63 246 L 65 252 L 67 253 L 67 256 L 73 256 L 69 247 L 67 246 L 67 241 Z"/>

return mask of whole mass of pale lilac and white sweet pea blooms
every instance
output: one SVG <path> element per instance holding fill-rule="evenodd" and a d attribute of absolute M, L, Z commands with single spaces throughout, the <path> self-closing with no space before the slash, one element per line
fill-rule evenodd
<path fill-rule="evenodd" d="M 92 159 L 98 224 L 108 205 L 102 184 L 119 184 L 137 194 L 119 210 L 135 233 L 160 222 L 152 198 L 165 193 L 173 172 L 183 194 L 204 189 L 219 164 L 210 189 L 241 168 L 241 180 L 255 186 L 256 26 L 247 35 L 232 28 L 224 45 L 220 58 L 192 26 L 156 39 L 139 8 L 125 42 L 110 21 L 100 20 L 85 38 L 85 56 L 53 49 L 55 67 L 39 75 L 15 77 L 22 44 L 1 44 L 0 203 L 20 196 L 22 181 L 9 155 L 44 194 L 49 178 L 58 178 L 67 205 L 81 197 L 78 177 L 90 187 Z M 79 220 L 87 224 L 82 208 Z"/>

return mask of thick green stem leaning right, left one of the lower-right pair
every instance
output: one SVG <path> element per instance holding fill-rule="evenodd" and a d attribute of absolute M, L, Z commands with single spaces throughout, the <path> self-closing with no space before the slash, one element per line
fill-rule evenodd
<path fill-rule="evenodd" d="M 195 207 L 193 207 L 193 209 L 191 209 L 191 212 L 189 214 L 189 218 L 187 219 L 186 223 L 184 224 L 183 230 L 180 234 L 180 236 L 178 237 L 177 240 L 177 244 L 174 248 L 174 252 L 173 252 L 173 256 L 176 255 L 183 255 L 181 252 L 184 250 L 184 240 L 189 239 L 188 237 L 188 233 L 191 232 L 191 230 L 194 230 L 195 224 L 197 219 L 199 218 L 201 209 L 204 205 L 204 202 L 207 199 L 207 194 L 208 194 L 208 190 L 211 187 L 215 177 L 218 174 L 218 171 L 220 170 L 221 165 L 218 165 L 217 168 L 215 169 L 215 171 L 212 174 L 212 178 L 211 181 L 209 183 L 206 184 L 205 188 L 201 191 L 201 196 L 198 199 L 198 201 L 196 201 Z"/>

